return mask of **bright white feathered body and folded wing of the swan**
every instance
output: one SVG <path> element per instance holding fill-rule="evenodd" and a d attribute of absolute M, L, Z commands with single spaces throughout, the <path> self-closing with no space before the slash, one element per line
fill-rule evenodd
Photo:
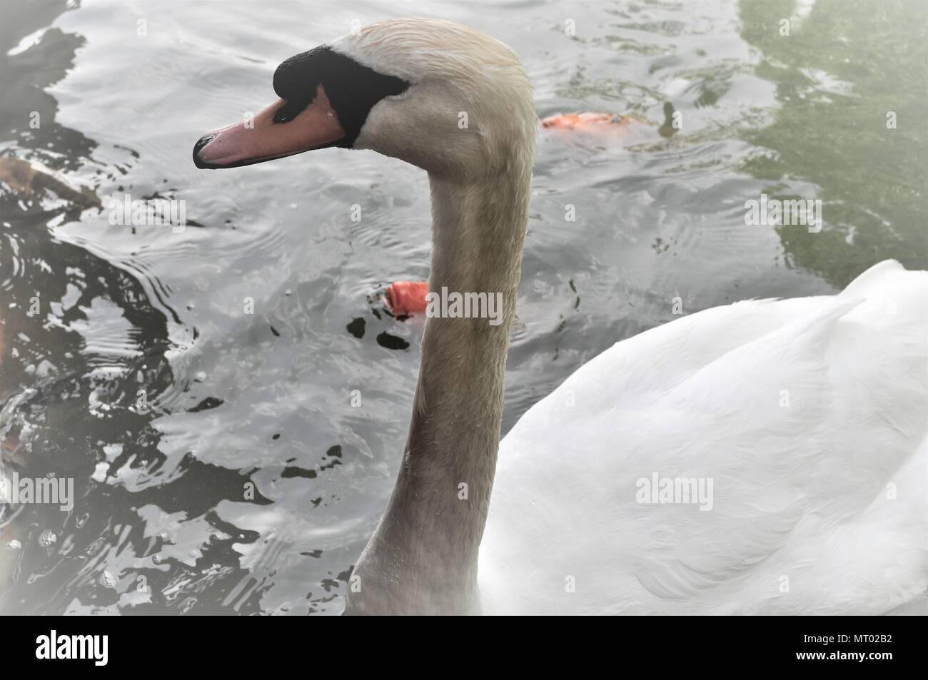
<path fill-rule="evenodd" d="M 928 273 L 624 340 L 500 444 L 488 612 L 876 613 L 926 590 Z"/>

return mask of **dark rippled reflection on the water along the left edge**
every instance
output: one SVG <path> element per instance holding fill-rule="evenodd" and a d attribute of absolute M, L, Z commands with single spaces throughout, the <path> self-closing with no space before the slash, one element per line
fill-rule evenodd
<path fill-rule="evenodd" d="M 13 27 L 47 25 L 64 8 L 5 3 L 13 20 L 0 44 L 0 87 L 10 94 L 0 134 L 19 158 L 67 172 L 97 164 L 97 144 L 56 122 L 45 88 L 73 67 L 84 39 L 52 28 L 8 54 L 22 37 Z M 28 126 L 32 111 L 36 128 Z M 100 183 L 116 179 L 115 171 L 97 174 Z M 70 513 L 0 506 L 0 605 L 5 613 L 210 609 L 219 595 L 198 609 L 193 594 L 211 584 L 225 594 L 245 578 L 244 570 L 213 565 L 234 564 L 232 543 L 255 536 L 208 512 L 225 498 L 240 500 L 247 474 L 160 451 L 152 421 L 185 389 L 167 358 L 177 314 L 152 302 L 152 282 L 147 289 L 137 273 L 52 236 L 84 212 L 75 197 L 14 188 L 0 192 L 3 467 L 20 479 L 71 478 L 75 503 Z M 200 410 L 210 405 L 200 402 Z M 253 502 L 268 503 L 260 493 Z M 198 517 L 205 519 L 184 522 Z M 193 545 L 202 536 L 207 543 Z M 256 597 L 237 609 L 256 610 Z"/>

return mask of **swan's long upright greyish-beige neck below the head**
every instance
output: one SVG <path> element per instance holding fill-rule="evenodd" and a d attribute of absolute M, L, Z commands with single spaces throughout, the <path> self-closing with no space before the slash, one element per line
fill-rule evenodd
<path fill-rule="evenodd" d="M 486 293 L 501 310 L 493 308 L 496 318 L 427 319 L 403 465 L 352 574 L 346 613 L 479 610 L 477 553 L 528 222 L 531 155 L 523 155 L 525 167 L 507 163 L 479 182 L 429 177 L 430 292 Z"/>

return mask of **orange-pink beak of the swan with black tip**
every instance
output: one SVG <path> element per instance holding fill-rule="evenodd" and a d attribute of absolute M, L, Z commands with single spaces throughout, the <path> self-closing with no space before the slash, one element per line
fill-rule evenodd
<path fill-rule="evenodd" d="M 198 168 L 237 168 L 334 147 L 346 136 L 318 83 L 308 104 L 277 99 L 253 117 L 201 136 L 193 148 L 193 162 Z"/>

